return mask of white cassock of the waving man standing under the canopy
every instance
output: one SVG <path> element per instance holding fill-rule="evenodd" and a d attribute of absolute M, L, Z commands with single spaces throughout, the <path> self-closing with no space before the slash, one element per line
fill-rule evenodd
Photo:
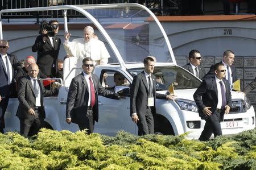
<path fill-rule="evenodd" d="M 110 57 L 105 44 L 98 39 L 91 39 L 89 42 L 85 42 L 84 38 L 74 39 L 72 42 L 66 40 L 63 45 L 68 55 L 77 58 L 77 63 L 74 67 L 81 66 L 85 57 L 90 57 L 95 66 L 107 64 Z"/>

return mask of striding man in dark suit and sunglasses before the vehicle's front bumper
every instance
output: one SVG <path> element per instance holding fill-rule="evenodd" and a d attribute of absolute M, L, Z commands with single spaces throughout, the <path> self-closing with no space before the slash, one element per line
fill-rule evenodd
<path fill-rule="evenodd" d="M 224 114 L 228 114 L 232 106 L 229 82 L 224 78 L 225 72 L 224 64 L 215 64 L 215 76 L 203 80 L 193 96 L 201 119 L 206 121 L 199 140 L 206 141 L 212 134 L 214 137 L 222 135 L 220 121 L 224 120 Z"/>

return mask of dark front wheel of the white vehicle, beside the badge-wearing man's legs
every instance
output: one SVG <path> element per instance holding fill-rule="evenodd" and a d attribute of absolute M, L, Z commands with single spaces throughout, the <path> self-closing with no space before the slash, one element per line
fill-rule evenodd
<path fill-rule="evenodd" d="M 163 115 L 156 114 L 154 123 L 155 123 L 155 134 L 175 135 L 174 129 L 172 128 L 171 123 Z"/>

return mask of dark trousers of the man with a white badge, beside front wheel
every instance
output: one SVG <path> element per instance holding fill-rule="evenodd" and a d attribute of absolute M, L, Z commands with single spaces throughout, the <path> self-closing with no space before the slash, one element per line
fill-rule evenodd
<path fill-rule="evenodd" d="M 137 122 L 138 135 L 142 136 L 146 134 L 154 134 L 155 132 L 154 117 L 150 107 L 146 109 L 145 115 L 140 115 L 138 117 L 139 117 L 139 121 Z"/>

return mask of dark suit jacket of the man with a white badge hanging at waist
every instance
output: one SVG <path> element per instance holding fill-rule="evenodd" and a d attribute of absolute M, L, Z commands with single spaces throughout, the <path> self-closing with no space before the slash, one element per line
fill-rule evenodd
<path fill-rule="evenodd" d="M 166 95 L 159 94 L 155 92 L 155 76 L 151 74 L 153 81 L 153 96 L 154 103 L 155 98 L 166 99 Z M 137 113 L 138 117 L 146 114 L 147 102 L 148 102 L 148 84 L 144 71 L 137 74 L 133 78 L 133 83 L 131 84 L 131 102 L 130 102 L 130 116 L 133 113 Z M 155 114 L 155 105 L 151 107 L 152 114 Z"/>

